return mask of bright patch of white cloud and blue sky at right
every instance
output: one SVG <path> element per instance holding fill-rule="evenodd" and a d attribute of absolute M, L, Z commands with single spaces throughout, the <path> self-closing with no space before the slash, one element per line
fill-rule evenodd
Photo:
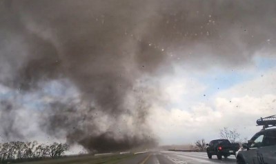
<path fill-rule="evenodd" d="M 219 130 L 224 127 L 237 130 L 241 140 L 253 137 L 262 129 L 256 120 L 275 115 L 274 61 L 258 56 L 252 65 L 239 69 L 191 72 L 177 68 L 164 80 L 170 104 L 157 107 L 151 117 L 162 143 L 219 139 Z"/>

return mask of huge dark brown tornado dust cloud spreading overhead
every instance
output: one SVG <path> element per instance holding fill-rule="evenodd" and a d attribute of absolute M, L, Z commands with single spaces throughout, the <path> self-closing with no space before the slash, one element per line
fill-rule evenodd
<path fill-rule="evenodd" d="M 152 83 L 143 79 L 174 65 L 250 64 L 275 47 L 275 12 L 274 1 L 2 0 L 1 89 L 35 101 L 48 82 L 66 81 L 77 97 L 44 101 L 41 130 L 91 151 L 155 145 L 147 116 L 161 95 L 146 92 Z M 12 128 L 24 102 L 11 97 L 0 97 L 1 135 L 24 139 Z"/>

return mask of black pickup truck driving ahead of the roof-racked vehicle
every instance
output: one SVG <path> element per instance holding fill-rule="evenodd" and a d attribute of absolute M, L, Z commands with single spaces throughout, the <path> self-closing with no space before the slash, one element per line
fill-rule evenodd
<path fill-rule="evenodd" d="M 206 145 L 208 145 L 207 155 L 209 159 L 212 159 L 213 155 L 217 155 L 217 159 L 221 159 L 222 156 L 227 158 L 230 155 L 235 155 L 239 150 L 239 143 L 230 143 L 228 139 L 215 139 Z"/>

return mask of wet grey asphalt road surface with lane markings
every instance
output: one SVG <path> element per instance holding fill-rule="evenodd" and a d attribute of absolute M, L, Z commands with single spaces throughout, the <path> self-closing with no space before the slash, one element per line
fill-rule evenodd
<path fill-rule="evenodd" d="M 134 158 L 119 164 L 199 164 L 199 163 L 236 163 L 235 156 L 218 160 L 217 156 L 208 159 L 206 152 L 148 152 L 137 154 Z"/>

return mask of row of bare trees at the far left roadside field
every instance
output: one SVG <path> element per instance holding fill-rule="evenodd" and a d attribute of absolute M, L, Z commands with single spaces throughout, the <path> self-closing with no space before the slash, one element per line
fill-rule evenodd
<path fill-rule="evenodd" d="M 66 143 L 39 144 L 37 141 L 12 141 L 0 143 L 1 163 L 8 161 L 28 161 L 30 159 L 58 158 L 68 150 Z"/>

